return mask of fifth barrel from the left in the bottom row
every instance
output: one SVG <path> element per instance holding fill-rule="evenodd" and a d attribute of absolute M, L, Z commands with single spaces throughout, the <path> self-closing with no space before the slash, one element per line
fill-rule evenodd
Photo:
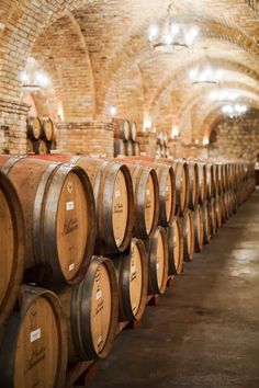
<path fill-rule="evenodd" d="M 168 275 L 179 275 L 183 270 L 182 222 L 176 217 L 167 228 Z"/>

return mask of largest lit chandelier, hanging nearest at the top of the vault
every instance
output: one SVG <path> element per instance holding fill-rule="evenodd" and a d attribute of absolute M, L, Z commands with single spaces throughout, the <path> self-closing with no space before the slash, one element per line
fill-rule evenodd
<path fill-rule="evenodd" d="M 166 21 L 162 25 L 153 23 L 148 28 L 148 41 L 153 48 L 168 52 L 173 46 L 189 48 L 199 36 L 200 28 L 196 25 L 187 26 L 173 21 L 172 2 L 168 5 Z"/>

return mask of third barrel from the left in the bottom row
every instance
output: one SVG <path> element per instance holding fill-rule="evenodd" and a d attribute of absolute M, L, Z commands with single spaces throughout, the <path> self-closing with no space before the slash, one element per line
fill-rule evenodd
<path fill-rule="evenodd" d="M 138 320 L 147 301 L 147 252 L 142 240 L 133 239 L 130 250 L 112 258 L 119 283 L 119 320 Z"/>

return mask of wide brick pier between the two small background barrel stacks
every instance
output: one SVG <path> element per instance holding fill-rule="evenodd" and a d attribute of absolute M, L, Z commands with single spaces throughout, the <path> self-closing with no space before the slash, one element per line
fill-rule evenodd
<path fill-rule="evenodd" d="M 58 123 L 57 151 L 113 157 L 113 125 L 103 122 Z"/>

